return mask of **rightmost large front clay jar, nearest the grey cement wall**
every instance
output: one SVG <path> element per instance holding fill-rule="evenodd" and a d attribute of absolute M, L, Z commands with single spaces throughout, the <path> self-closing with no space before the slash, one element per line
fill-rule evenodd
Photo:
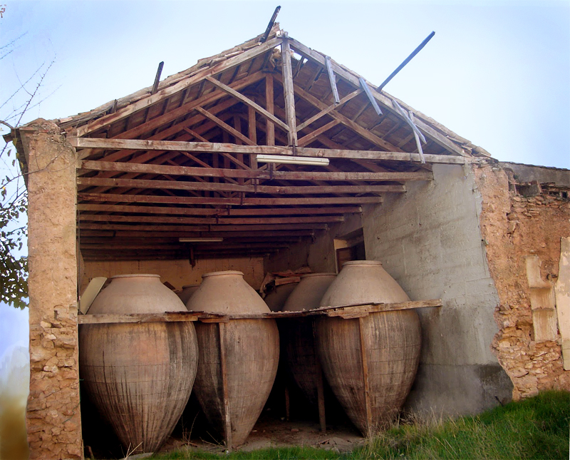
<path fill-rule="evenodd" d="M 346 262 L 321 307 L 410 300 L 376 261 Z M 420 358 L 421 331 L 413 310 L 375 312 L 354 319 L 320 317 L 321 366 L 338 401 L 366 436 L 385 428 L 410 392 Z"/>

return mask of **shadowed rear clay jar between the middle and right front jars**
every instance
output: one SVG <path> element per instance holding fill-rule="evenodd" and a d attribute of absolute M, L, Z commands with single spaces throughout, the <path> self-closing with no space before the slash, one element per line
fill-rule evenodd
<path fill-rule="evenodd" d="M 299 312 L 318 308 L 335 278 L 336 273 L 302 275 L 301 282 L 287 298 L 282 311 Z M 306 399 L 316 405 L 321 367 L 316 357 L 312 317 L 281 320 L 279 332 L 291 376 Z"/>

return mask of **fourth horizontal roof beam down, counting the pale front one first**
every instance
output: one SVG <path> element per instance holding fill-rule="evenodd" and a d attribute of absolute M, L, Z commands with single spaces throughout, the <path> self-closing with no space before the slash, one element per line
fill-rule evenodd
<path fill-rule="evenodd" d="M 224 206 L 301 206 L 301 205 L 364 205 L 383 202 L 381 196 L 341 196 L 311 198 L 211 198 L 157 195 L 120 195 L 118 193 L 78 193 L 83 201 L 113 203 L 170 203 L 180 205 L 224 205 Z"/>

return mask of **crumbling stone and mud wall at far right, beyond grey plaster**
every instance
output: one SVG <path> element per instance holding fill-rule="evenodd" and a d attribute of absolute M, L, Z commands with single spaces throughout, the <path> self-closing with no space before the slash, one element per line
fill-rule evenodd
<path fill-rule="evenodd" d="M 496 166 L 475 168 L 475 176 L 483 197 L 482 237 L 500 300 L 492 347 L 512 379 L 513 398 L 543 389 L 570 390 L 555 312 L 548 305 L 532 305 L 536 290 L 546 292 L 543 304 L 553 305 L 548 292 L 559 273 L 561 237 L 570 236 L 569 200 L 541 195 L 539 187 L 534 192 L 539 194 L 525 198 L 514 183 L 509 191 L 507 173 Z M 533 267 L 539 267 L 537 280 Z"/>

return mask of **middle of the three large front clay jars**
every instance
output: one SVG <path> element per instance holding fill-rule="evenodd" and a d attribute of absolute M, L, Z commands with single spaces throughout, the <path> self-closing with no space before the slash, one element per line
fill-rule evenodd
<path fill-rule="evenodd" d="M 244 315 L 268 313 L 242 272 L 213 272 L 190 297 L 187 309 Z M 275 320 L 230 319 L 196 324 L 199 344 L 194 391 L 227 446 L 243 444 L 269 397 L 279 363 Z"/>

